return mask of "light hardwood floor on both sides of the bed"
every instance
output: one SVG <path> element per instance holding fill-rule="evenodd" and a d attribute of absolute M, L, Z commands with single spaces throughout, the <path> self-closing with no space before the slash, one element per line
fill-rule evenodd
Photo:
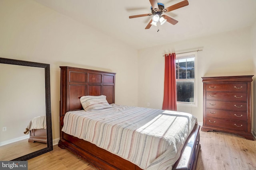
<path fill-rule="evenodd" d="M 196 170 L 256 170 L 256 141 L 222 132 L 200 131 L 201 150 Z M 29 170 L 97 170 L 57 145 L 28 160 Z"/>

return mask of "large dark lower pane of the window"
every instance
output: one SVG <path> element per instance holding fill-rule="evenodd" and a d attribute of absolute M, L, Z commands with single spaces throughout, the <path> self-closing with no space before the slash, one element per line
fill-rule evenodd
<path fill-rule="evenodd" d="M 177 102 L 194 102 L 194 81 L 177 81 Z"/>

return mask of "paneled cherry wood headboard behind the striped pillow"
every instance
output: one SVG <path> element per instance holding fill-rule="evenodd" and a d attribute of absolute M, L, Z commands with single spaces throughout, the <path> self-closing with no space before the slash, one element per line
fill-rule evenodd
<path fill-rule="evenodd" d="M 115 102 L 116 73 L 69 66 L 60 66 L 60 125 L 67 111 L 81 110 L 81 96 L 106 96 Z"/>

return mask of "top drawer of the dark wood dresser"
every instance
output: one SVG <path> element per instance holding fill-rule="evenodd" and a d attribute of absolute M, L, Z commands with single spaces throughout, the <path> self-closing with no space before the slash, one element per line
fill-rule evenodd
<path fill-rule="evenodd" d="M 206 91 L 247 92 L 246 83 L 207 83 Z"/>

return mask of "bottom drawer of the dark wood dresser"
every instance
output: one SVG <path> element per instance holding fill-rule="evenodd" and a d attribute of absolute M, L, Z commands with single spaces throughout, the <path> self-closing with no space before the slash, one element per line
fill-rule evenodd
<path fill-rule="evenodd" d="M 244 121 L 218 119 L 214 117 L 206 117 L 206 125 L 212 127 L 221 127 L 237 131 L 247 131 L 247 123 Z"/>

